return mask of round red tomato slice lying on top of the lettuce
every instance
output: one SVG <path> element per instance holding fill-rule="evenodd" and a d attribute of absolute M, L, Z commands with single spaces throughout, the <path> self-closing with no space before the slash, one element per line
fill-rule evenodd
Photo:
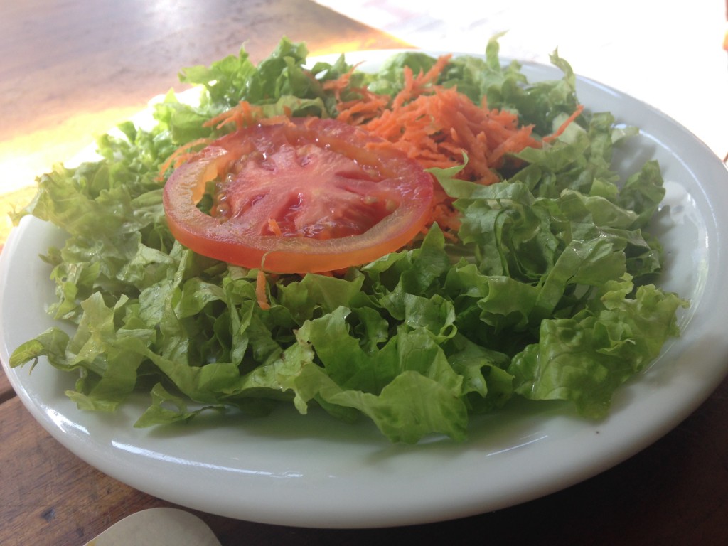
<path fill-rule="evenodd" d="M 211 181 L 205 212 L 198 204 Z M 326 272 L 410 242 L 430 218 L 432 176 L 359 127 L 265 120 L 175 169 L 164 206 L 172 234 L 199 254 L 269 272 Z"/>

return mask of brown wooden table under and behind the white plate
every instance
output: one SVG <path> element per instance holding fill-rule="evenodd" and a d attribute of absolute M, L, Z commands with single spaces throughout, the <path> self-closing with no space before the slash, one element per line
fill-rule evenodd
<path fill-rule="evenodd" d="M 0 7 L 0 160 L 16 175 L 37 174 L 178 86 L 178 68 L 237 52 L 242 42 L 260 60 L 284 34 L 305 40 L 312 53 L 405 45 L 306 0 L 6 2 Z M 531 546 L 728 544 L 727 416 L 724 381 L 684 423 L 612 470 L 459 521 L 322 530 L 197 515 L 223 545 L 458 544 L 473 537 Z M 60 446 L 0 376 L 2 545 L 82 545 L 124 516 L 161 506 L 170 505 Z"/>

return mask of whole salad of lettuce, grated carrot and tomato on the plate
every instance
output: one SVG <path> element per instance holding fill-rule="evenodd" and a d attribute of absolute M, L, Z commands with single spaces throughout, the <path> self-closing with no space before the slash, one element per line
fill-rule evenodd
<path fill-rule="evenodd" d="M 365 71 L 282 39 L 186 68 L 199 100 L 168 93 L 15 215 L 68 233 L 43 259 L 73 328 L 9 364 L 75 373 L 82 410 L 146 392 L 137 427 L 284 403 L 464 440 L 518 397 L 603 418 L 688 305 L 654 284 L 660 167 L 620 178 L 637 129 L 584 109 L 557 53 L 535 83 L 498 53 Z"/>

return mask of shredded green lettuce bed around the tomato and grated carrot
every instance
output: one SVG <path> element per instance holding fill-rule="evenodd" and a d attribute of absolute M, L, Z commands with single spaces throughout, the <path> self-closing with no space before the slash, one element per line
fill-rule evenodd
<path fill-rule="evenodd" d="M 68 233 L 43 259 L 57 294 L 49 312 L 76 329 L 41 333 L 10 365 L 46 357 L 75 373 L 67 394 L 89 411 L 147 392 L 138 427 L 292 403 L 301 414 L 364 416 L 392 442 L 464 440 L 470 416 L 514 397 L 604 418 L 615 389 L 679 335 L 688 304 L 654 284 L 662 248 L 646 228 L 664 194 L 660 167 L 620 179 L 612 149 L 636 129 L 609 113 L 587 112 L 549 146 L 517 154 L 523 168 L 493 186 L 454 178 L 462 167 L 432 170 L 462 213 L 458 244 L 435 225 L 414 248 L 341 278 L 269 277 L 268 310 L 256 304 L 256 270 L 174 240 L 158 170 L 178 146 L 218 134 L 203 122 L 242 99 L 271 115 L 336 116 L 323 82 L 352 66 L 341 56 L 308 70 L 306 55 L 282 39 L 258 66 L 241 49 L 186 68 L 181 81 L 203 87 L 198 105 L 170 92 L 153 127 L 124 123 L 98 139 L 98 161 L 39 178 L 14 220 L 31 214 Z M 502 66 L 494 38 L 484 58 L 454 58 L 440 83 L 547 134 L 578 103 L 571 67 L 556 53 L 552 62 L 563 78 L 531 84 L 518 63 Z M 433 63 L 404 52 L 375 73 L 356 71 L 352 85 L 391 94 L 403 66 Z"/>

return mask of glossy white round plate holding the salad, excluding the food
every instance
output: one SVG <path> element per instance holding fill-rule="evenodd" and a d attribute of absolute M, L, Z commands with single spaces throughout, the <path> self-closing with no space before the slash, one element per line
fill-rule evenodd
<path fill-rule="evenodd" d="M 391 52 L 348 54 L 376 66 Z M 526 64 L 536 81 L 553 67 Z M 662 165 L 668 186 L 655 226 L 665 243 L 663 288 L 690 298 L 684 335 L 614 397 L 603 422 L 561 403 L 515 403 L 473 419 L 470 440 L 390 445 L 368 423 L 349 426 L 288 408 L 258 420 L 202 416 L 181 427 L 135 430 L 143 401 L 113 415 L 79 411 L 63 395 L 74 381 L 42 363 L 7 368 L 17 345 L 48 328 L 54 287 L 37 256 L 58 231 L 25 218 L 0 258 L 0 358 L 17 395 L 60 443 L 92 466 L 171 502 L 249 521 L 373 527 L 441 521 L 515 505 L 596 475 L 660 438 L 708 397 L 728 372 L 728 171 L 709 149 L 659 111 L 581 79 L 587 107 L 612 111 L 642 133 L 618 158 L 629 174 Z"/>

